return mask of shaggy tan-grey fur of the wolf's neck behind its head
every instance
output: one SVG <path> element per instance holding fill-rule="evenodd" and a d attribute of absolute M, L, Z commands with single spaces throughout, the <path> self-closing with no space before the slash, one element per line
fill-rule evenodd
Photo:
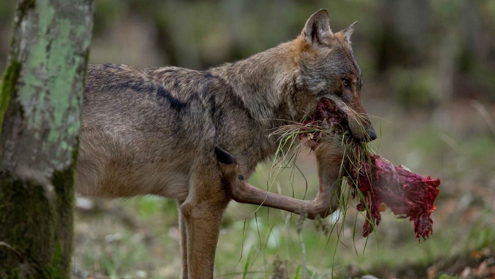
<path fill-rule="evenodd" d="M 266 130 L 280 126 L 283 122 L 280 120 L 299 120 L 303 113 L 288 104 L 296 90 L 294 44 L 295 41 L 283 43 L 247 59 L 210 69 L 232 87 L 232 93 Z"/>

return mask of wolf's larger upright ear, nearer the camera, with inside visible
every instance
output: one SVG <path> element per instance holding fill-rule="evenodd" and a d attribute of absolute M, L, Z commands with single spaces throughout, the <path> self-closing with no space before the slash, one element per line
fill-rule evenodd
<path fill-rule="evenodd" d="M 310 46 L 328 44 L 332 36 L 326 9 L 313 13 L 306 21 L 304 29 L 302 29 L 302 39 Z"/>

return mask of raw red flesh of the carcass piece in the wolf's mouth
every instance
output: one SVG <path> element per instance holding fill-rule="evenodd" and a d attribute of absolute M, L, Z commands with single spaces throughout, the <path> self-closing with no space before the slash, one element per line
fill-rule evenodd
<path fill-rule="evenodd" d="M 311 119 L 304 124 L 333 127 L 341 132 L 347 126 L 344 112 L 327 98 L 320 100 L 315 112 L 310 116 Z M 317 141 L 319 135 L 314 136 L 313 141 Z M 414 231 L 418 239 L 428 238 L 430 233 L 433 233 L 433 220 L 430 215 L 435 211 L 434 202 L 439 193 L 440 179 L 431 179 L 430 176 L 424 177 L 395 167 L 374 154 L 370 154 L 369 162 L 361 162 L 360 165 L 364 167 L 359 170 L 353 167 L 349 170 L 349 178 L 355 182 L 353 198 L 358 194 L 357 188 L 364 197 L 357 206 L 359 211 L 366 211 L 367 220 L 363 225 L 363 236 L 373 231 L 370 221 L 375 225 L 380 223 L 382 204 L 385 204 L 392 209 L 396 217 L 414 221 Z"/>

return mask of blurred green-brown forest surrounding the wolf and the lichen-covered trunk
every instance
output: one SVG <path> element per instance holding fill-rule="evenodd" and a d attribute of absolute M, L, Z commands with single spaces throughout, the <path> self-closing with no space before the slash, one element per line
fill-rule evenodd
<path fill-rule="evenodd" d="M 5 67 L 14 0 L 0 1 L 0 71 Z M 206 69 L 295 38 L 327 8 L 333 31 L 358 20 L 352 36 L 362 68 L 364 105 L 379 118 L 379 152 L 442 179 L 434 234 L 418 244 L 413 224 L 390 211 L 376 234 L 363 218 L 305 221 L 311 278 L 493 278 L 495 274 L 494 0 L 96 0 L 91 63 Z M 297 166 L 317 191 L 314 157 Z M 308 156 L 306 156 L 308 155 Z M 269 165 L 250 179 L 263 187 Z M 299 173 L 277 177 L 278 190 L 302 198 Z M 355 203 L 352 203 L 355 205 Z M 232 202 L 215 259 L 218 278 L 302 278 L 297 216 Z M 178 278 L 175 202 L 154 197 L 78 200 L 76 278 Z M 338 220 L 338 221 L 336 221 Z M 337 222 L 332 233 L 330 229 Z M 337 233 L 339 232 L 339 233 Z"/>

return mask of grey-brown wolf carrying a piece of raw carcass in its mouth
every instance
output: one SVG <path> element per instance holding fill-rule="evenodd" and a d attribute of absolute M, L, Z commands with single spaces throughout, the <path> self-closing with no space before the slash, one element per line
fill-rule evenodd
<path fill-rule="evenodd" d="M 235 170 L 247 179 L 277 150 L 269 131 L 300 121 L 321 98 L 346 113 L 354 138 L 376 138 L 361 102 L 363 80 L 350 44 L 356 23 L 333 33 L 328 12 L 321 9 L 296 39 L 205 71 L 89 65 L 77 191 L 104 198 L 151 194 L 176 199 L 183 278 L 213 277 L 220 220 L 232 198 L 255 204 L 266 200 L 309 217 L 325 215 L 321 208 L 330 208 L 326 196 L 314 204 L 276 194 L 260 200 L 268 193 L 254 193 L 245 184 L 238 186 L 242 191 L 226 187 L 236 187 L 226 173 Z M 326 146 L 321 154 L 339 158 L 337 144 Z M 335 172 L 340 166 L 339 160 L 321 156 L 327 169 Z"/>

